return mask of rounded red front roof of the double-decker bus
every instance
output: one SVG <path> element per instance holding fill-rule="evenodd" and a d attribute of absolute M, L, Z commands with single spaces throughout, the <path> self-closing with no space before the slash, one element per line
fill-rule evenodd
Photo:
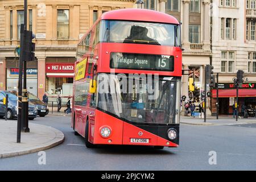
<path fill-rule="evenodd" d="M 100 20 L 102 19 L 180 24 L 174 16 L 147 9 L 120 9 L 108 11 L 101 15 Z"/>

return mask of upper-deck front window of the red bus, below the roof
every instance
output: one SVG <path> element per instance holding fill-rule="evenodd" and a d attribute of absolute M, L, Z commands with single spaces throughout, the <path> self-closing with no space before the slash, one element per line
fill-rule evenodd
<path fill-rule="evenodd" d="M 100 42 L 180 47 L 177 24 L 102 20 L 100 27 Z"/>

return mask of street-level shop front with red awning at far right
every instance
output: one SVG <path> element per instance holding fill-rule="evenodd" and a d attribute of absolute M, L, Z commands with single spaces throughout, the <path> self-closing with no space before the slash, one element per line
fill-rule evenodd
<path fill-rule="evenodd" d="M 219 98 L 219 114 L 233 114 L 233 104 L 236 101 L 237 89 L 234 84 L 221 83 L 218 84 L 218 98 Z M 216 114 L 217 89 L 212 90 L 212 113 Z M 242 84 L 238 89 L 238 111 L 242 111 L 242 106 L 247 110 L 255 110 L 256 107 L 256 83 Z M 254 111 L 255 112 L 255 111 Z M 254 113 L 249 116 L 253 117 Z"/>

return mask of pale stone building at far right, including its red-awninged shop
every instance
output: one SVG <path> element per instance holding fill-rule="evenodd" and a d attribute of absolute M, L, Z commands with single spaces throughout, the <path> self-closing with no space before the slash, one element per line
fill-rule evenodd
<path fill-rule="evenodd" d="M 214 72 L 219 73 L 220 114 L 233 112 L 233 78 L 239 69 L 245 72 L 239 110 L 242 105 L 256 105 L 255 3 L 254 0 L 213 0 L 212 65 Z M 216 94 L 212 98 L 213 114 L 215 104 Z"/>

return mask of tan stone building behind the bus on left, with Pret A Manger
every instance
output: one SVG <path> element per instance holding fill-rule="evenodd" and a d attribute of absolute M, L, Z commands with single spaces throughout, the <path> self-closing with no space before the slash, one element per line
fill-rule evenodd
<path fill-rule="evenodd" d="M 105 11 L 132 8 L 135 0 L 28 1 L 28 29 L 36 35 L 35 57 L 28 63 L 28 90 L 69 96 L 79 38 Z M 0 89 L 16 89 L 20 24 L 23 1 L 0 1 Z M 64 68 L 61 69 L 61 68 Z M 37 73 L 37 74 L 36 74 Z"/>

